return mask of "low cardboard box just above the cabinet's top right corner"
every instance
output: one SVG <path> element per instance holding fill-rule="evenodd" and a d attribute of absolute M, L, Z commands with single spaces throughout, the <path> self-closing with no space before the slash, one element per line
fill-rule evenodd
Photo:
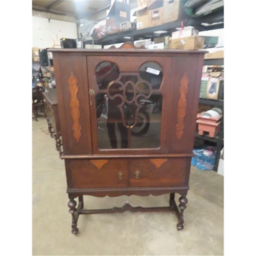
<path fill-rule="evenodd" d="M 187 38 L 171 39 L 169 43 L 170 49 L 194 50 L 204 48 L 204 37 L 189 36 Z"/>

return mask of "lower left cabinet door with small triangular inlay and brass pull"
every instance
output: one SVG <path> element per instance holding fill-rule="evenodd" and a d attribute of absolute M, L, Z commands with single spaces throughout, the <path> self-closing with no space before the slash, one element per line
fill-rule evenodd
<path fill-rule="evenodd" d="M 125 187 L 128 181 L 128 160 L 71 160 L 73 188 Z"/>

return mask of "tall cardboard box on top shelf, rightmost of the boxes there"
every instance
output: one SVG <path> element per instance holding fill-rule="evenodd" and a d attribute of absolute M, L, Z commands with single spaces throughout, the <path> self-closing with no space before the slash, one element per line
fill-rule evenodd
<path fill-rule="evenodd" d="M 180 19 L 180 1 L 164 0 L 163 1 L 163 23 L 172 22 Z"/>

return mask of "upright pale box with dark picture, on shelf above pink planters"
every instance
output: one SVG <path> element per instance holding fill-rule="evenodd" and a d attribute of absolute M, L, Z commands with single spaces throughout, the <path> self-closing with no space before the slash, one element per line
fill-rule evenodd
<path fill-rule="evenodd" d="M 212 72 L 209 74 L 209 80 L 207 83 L 207 99 L 218 99 L 220 84 L 222 84 L 223 77 L 221 76 L 221 72 Z"/>

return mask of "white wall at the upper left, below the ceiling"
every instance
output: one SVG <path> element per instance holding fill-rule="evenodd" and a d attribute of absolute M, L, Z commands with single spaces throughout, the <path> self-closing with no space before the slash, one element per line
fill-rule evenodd
<path fill-rule="evenodd" d="M 60 38 L 77 38 L 76 23 L 33 17 L 33 47 L 47 48 L 60 44 Z"/>

